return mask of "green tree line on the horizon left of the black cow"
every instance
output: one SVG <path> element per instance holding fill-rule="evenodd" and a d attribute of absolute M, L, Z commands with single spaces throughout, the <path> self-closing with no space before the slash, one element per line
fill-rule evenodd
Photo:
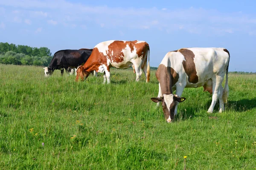
<path fill-rule="evenodd" d="M 0 63 L 14 65 L 48 66 L 52 53 L 47 47 L 30 47 L 0 42 Z"/>

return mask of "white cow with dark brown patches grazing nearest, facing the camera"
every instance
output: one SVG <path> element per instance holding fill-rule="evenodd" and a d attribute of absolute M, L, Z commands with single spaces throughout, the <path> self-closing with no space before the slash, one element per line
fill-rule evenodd
<path fill-rule="evenodd" d="M 219 112 L 224 111 L 224 102 L 228 97 L 227 73 L 230 60 L 229 51 L 225 48 L 181 48 L 166 54 L 157 68 L 156 77 L 159 82 L 158 97 L 151 98 L 153 102 L 162 102 L 163 112 L 167 122 L 172 122 L 177 114 L 179 102 L 184 88 L 198 88 L 212 94 L 212 103 L 208 113 L 219 99 Z M 224 89 L 222 82 L 226 74 Z M 172 94 L 176 90 L 176 94 Z"/>

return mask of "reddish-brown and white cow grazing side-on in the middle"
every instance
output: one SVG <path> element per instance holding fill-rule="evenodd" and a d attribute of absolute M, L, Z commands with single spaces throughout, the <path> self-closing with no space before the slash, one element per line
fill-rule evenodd
<path fill-rule="evenodd" d="M 110 83 L 110 68 L 126 69 L 134 65 L 136 81 L 139 81 L 142 71 L 146 82 L 149 82 L 149 45 L 145 41 L 119 41 L 110 40 L 100 42 L 93 48 L 90 58 L 84 65 L 77 68 L 76 81 L 86 79 L 90 71 L 95 70 L 104 74 L 104 82 Z"/>

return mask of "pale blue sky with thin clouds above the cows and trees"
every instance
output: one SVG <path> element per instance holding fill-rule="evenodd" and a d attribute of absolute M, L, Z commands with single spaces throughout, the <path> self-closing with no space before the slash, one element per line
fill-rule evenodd
<path fill-rule="evenodd" d="M 230 71 L 256 72 L 256 1 L 0 0 L 0 42 L 61 49 L 144 40 L 150 65 L 184 47 L 223 47 Z"/>

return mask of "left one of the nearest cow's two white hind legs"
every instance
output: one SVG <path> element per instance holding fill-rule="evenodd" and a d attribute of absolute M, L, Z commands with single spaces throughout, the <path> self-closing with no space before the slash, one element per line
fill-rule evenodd
<path fill-rule="evenodd" d="M 208 113 L 213 112 L 214 106 L 221 93 L 220 88 L 222 87 L 221 86 L 222 81 L 223 81 L 223 76 L 216 75 L 216 77 L 212 78 L 212 103 L 207 111 Z"/>

